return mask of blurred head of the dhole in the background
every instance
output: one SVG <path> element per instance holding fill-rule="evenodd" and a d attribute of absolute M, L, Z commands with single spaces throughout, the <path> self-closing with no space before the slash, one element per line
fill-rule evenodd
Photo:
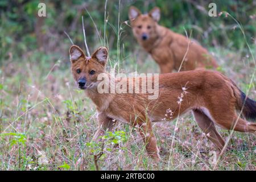
<path fill-rule="evenodd" d="M 156 26 L 160 19 L 160 9 L 158 7 L 154 7 L 148 14 L 141 14 L 141 11 L 131 6 L 129 19 L 131 20 L 133 34 L 137 40 L 146 43 L 148 40 L 154 41 L 157 38 Z"/>

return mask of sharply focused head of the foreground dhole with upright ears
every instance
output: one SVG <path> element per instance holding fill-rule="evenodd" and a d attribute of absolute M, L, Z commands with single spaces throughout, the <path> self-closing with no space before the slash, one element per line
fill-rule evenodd
<path fill-rule="evenodd" d="M 71 46 L 69 49 L 71 60 L 71 71 L 80 89 L 92 89 L 97 87 L 100 81 L 98 75 L 105 73 L 105 65 L 108 60 L 108 49 L 98 48 L 92 57 L 86 57 L 84 51 L 78 46 Z"/>

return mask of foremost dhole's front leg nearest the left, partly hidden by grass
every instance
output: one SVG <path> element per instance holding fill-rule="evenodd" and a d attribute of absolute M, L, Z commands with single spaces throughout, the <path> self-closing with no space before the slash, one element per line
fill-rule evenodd
<path fill-rule="evenodd" d="M 105 131 L 113 131 L 116 121 L 109 118 L 105 113 L 99 113 L 97 117 L 98 129 L 94 134 L 93 140 L 97 140 L 100 136 L 105 134 Z"/>

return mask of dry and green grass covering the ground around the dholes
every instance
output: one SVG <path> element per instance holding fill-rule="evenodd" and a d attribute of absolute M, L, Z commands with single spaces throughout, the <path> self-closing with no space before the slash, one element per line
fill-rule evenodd
<path fill-rule="evenodd" d="M 106 14 L 105 14 L 106 17 Z M 105 18 L 105 26 L 107 21 Z M 110 24 L 109 24 L 110 26 Z M 113 26 L 113 25 L 112 25 Z M 114 26 L 113 26 L 114 27 Z M 117 26 L 121 36 L 122 24 Z M 107 35 L 104 32 L 104 43 Z M 138 45 L 125 51 L 110 50 L 109 67 L 119 72 L 159 72 Z M 255 50 L 255 45 L 252 45 Z M 240 51 L 207 47 L 229 76 L 255 100 L 255 68 L 243 43 Z M 255 135 L 234 132 L 229 151 L 216 164 L 216 148 L 187 113 L 173 122 L 154 124 L 161 162 L 148 158 L 137 129 L 118 123 L 107 141 L 92 142 L 96 132 L 96 108 L 76 88 L 68 61 L 68 45 L 59 59 L 32 52 L 19 60 L 6 61 L 0 81 L 0 169 L 1 170 L 255 170 Z M 116 51 L 118 53 L 116 53 Z M 122 53 L 121 53 L 122 52 Z M 255 54 L 255 52 L 253 52 Z M 62 58 L 64 57 L 64 58 Z M 49 64 L 50 60 L 54 60 Z M 224 138 L 230 132 L 219 129 Z M 122 132 L 123 131 L 123 132 Z M 97 160 L 95 158 L 98 156 Z"/>

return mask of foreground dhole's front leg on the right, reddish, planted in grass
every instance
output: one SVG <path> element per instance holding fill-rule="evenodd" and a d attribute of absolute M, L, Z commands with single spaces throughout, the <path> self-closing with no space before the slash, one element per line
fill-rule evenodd
<path fill-rule="evenodd" d="M 160 160 L 158 146 L 156 144 L 156 138 L 152 130 L 152 124 L 150 121 L 146 123 L 138 123 L 139 125 L 139 134 L 146 144 L 146 150 L 148 155 L 152 156 L 153 159 L 158 162 Z"/>

